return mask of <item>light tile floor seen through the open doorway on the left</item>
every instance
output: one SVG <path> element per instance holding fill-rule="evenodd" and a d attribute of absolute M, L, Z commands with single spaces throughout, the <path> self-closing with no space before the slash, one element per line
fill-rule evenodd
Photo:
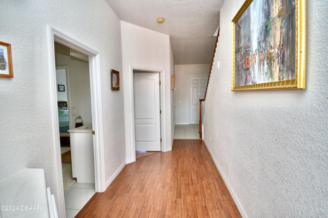
<path fill-rule="evenodd" d="M 61 153 L 70 150 L 70 147 L 60 147 Z M 64 168 L 68 164 L 61 164 Z M 94 184 L 76 183 L 64 190 L 66 218 L 73 218 L 87 204 L 95 194 Z"/>

